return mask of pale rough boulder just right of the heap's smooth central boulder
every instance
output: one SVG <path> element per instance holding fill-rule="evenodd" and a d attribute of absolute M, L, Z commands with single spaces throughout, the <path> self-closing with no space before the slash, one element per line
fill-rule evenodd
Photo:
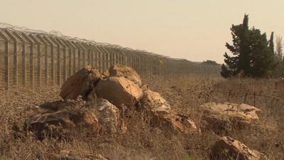
<path fill-rule="evenodd" d="M 151 90 L 143 91 L 143 97 L 139 101 L 141 107 L 152 112 L 170 112 L 170 105 L 158 92 Z"/>

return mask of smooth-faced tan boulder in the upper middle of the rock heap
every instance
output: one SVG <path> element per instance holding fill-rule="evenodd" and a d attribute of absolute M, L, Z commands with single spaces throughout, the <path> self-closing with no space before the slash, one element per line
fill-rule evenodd
<path fill-rule="evenodd" d="M 109 100 L 117 107 L 133 106 L 143 95 L 138 85 L 124 77 L 109 77 L 100 80 L 97 83 L 96 92 L 98 97 Z"/>

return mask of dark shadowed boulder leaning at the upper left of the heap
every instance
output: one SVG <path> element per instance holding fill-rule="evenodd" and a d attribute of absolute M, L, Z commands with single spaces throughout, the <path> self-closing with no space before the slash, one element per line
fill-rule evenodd
<path fill-rule="evenodd" d="M 79 95 L 86 98 L 101 78 L 99 70 L 87 65 L 63 83 L 60 96 L 63 100 L 76 100 Z"/>

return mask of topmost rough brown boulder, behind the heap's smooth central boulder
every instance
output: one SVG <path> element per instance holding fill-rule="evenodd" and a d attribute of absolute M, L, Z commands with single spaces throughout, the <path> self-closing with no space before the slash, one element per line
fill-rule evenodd
<path fill-rule="evenodd" d="M 136 85 L 141 87 L 141 77 L 136 73 L 136 70 L 133 70 L 133 68 L 121 65 L 121 64 L 115 64 L 111 65 L 111 67 L 104 73 L 107 76 L 110 77 L 124 77 L 132 82 L 134 82 Z"/>

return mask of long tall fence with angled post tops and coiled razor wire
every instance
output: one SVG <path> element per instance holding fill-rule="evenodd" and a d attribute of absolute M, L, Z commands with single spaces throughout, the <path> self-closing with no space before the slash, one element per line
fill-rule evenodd
<path fill-rule="evenodd" d="M 116 63 L 131 66 L 143 80 L 220 78 L 219 66 L 0 23 L 0 89 L 61 85 L 85 65 L 104 71 Z"/>

